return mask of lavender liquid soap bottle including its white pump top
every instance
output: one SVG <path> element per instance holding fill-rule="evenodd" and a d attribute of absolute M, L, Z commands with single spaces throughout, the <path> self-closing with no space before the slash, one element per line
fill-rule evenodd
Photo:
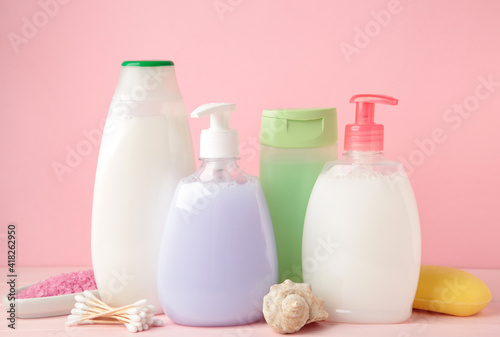
<path fill-rule="evenodd" d="M 231 103 L 205 104 L 201 167 L 182 179 L 163 232 L 158 293 L 177 324 L 228 326 L 255 322 L 278 281 L 274 233 L 257 177 L 237 165 L 238 132 L 229 129 Z"/>

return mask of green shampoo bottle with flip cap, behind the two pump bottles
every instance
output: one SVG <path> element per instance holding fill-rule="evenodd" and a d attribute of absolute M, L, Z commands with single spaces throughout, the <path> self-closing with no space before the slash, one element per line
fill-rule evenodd
<path fill-rule="evenodd" d="M 323 165 L 337 159 L 335 108 L 264 110 L 260 179 L 274 227 L 279 282 L 302 282 L 302 231 Z"/>

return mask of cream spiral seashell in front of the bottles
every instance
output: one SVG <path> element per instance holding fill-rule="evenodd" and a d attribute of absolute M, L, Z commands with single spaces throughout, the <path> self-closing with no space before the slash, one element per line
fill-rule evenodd
<path fill-rule="evenodd" d="M 285 280 L 271 286 L 264 296 L 263 313 L 267 324 L 280 333 L 299 331 L 304 325 L 324 321 L 328 313 L 324 300 L 313 294 L 308 283 Z"/>

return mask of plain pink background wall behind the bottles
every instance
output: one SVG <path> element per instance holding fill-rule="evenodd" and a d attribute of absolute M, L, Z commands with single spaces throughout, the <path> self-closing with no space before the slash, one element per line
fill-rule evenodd
<path fill-rule="evenodd" d="M 123 60 L 171 59 L 188 111 L 237 103 L 254 174 L 263 109 L 337 107 L 342 150 L 352 95 L 398 98 L 376 117 L 387 156 L 409 163 L 423 263 L 500 268 L 498 13 L 493 0 L 2 0 L 0 265 L 10 222 L 18 265 L 91 265 L 98 144 L 85 133 Z M 190 124 L 198 153 L 207 121 Z M 58 177 L 68 151 L 81 162 Z"/>

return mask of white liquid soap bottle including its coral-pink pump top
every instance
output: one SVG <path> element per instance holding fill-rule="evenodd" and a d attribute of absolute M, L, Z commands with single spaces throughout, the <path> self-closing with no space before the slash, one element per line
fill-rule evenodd
<path fill-rule="evenodd" d="M 411 316 L 420 271 L 420 222 L 399 162 L 382 157 L 384 126 L 375 103 L 356 95 L 356 122 L 345 132 L 344 159 L 326 163 L 306 212 L 304 282 L 324 298 L 328 320 L 398 323 Z"/>

